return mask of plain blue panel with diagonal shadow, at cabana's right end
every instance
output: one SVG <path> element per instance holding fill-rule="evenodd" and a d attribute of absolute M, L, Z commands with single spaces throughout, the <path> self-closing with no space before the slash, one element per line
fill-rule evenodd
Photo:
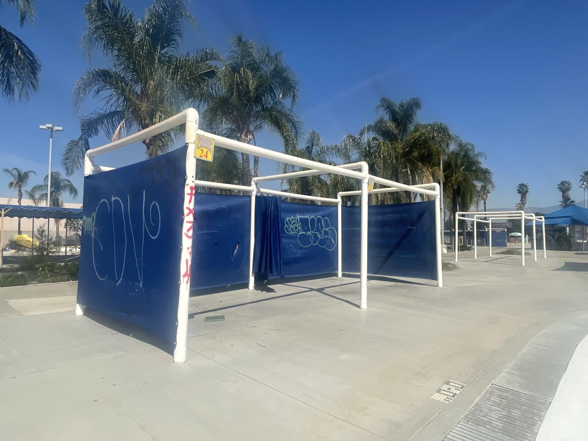
<path fill-rule="evenodd" d="M 360 207 L 343 207 L 343 271 L 359 272 Z M 368 273 L 437 279 L 433 201 L 370 205 Z"/>

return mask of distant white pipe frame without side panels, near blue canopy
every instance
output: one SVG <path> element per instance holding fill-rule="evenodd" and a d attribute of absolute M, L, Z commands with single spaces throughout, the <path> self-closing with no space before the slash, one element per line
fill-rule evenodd
<path fill-rule="evenodd" d="M 462 216 L 460 216 L 462 215 Z M 473 218 L 468 218 L 467 215 L 474 215 Z M 486 219 L 479 219 L 486 218 Z M 457 220 L 470 220 L 473 222 L 473 242 L 474 242 L 474 259 L 477 259 L 477 222 L 489 224 L 489 248 L 490 257 L 492 257 L 492 220 L 503 220 L 503 219 L 520 219 L 521 220 L 521 265 L 524 266 L 524 221 L 532 220 L 533 222 L 533 258 L 537 262 L 537 239 L 536 239 L 536 220 L 542 222 L 543 226 L 543 258 L 547 259 L 547 250 L 545 246 L 545 218 L 543 216 L 535 216 L 534 213 L 525 213 L 522 210 L 516 211 L 477 211 L 477 212 L 462 212 L 458 211 L 455 214 L 455 261 L 457 262 L 457 253 L 459 249 Z M 465 238 L 464 238 L 465 243 Z"/>

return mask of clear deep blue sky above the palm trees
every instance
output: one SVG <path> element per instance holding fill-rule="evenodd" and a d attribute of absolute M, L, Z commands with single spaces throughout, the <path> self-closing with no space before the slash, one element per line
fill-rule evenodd
<path fill-rule="evenodd" d="M 141 15 L 149 1 L 125 2 Z M 39 0 L 34 28 L 18 28 L 5 7 L 2 25 L 41 58 L 38 95 L 26 103 L 0 100 L 0 168 L 34 169 L 46 175 L 48 132 L 55 135 L 54 169 L 65 143 L 79 135 L 71 91 L 88 60 L 79 49 L 82 0 Z M 229 37 L 246 38 L 285 52 L 302 83 L 296 111 L 305 131 L 338 143 L 375 116 L 380 96 L 395 101 L 418 96 L 419 121 L 443 121 L 487 153 L 496 190 L 489 208 L 514 207 L 516 185 L 529 183 L 527 206 L 556 205 L 556 184 L 572 181 L 583 202 L 579 174 L 588 169 L 588 3 L 584 1 L 350 2 L 193 0 L 198 29 L 187 29 L 182 50 L 213 45 L 226 52 Z M 103 66 L 99 57 L 92 67 Z M 95 108 L 89 101 L 82 113 Z M 94 138 L 92 146 L 107 140 Z M 272 135 L 258 145 L 280 150 Z M 142 145 L 104 157 L 107 165 L 144 159 Z M 261 173 L 273 173 L 263 161 Z M 72 176 L 81 189 L 82 172 Z M 0 176 L 0 196 L 8 196 Z M 79 196 L 81 200 L 81 196 Z M 66 201 L 70 199 L 66 198 Z"/>

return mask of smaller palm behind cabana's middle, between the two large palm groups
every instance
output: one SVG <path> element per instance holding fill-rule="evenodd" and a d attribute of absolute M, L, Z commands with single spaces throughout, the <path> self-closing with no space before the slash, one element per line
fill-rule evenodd
<path fill-rule="evenodd" d="M 298 156 L 299 158 L 310 159 L 310 161 L 317 161 L 323 163 L 330 163 L 335 165 L 339 146 L 338 145 L 322 145 L 322 139 L 319 133 L 311 130 L 306 136 L 304 148 L 298 146 L 288 149 L 290 155 Z M 300 170 L 300 167 L 289 164 L 283 165 L 283 172 L 295 172 Z M 294 178 L 288 180 L 288 188 L 292 193 L 299 195 L 322 196 L 324 198 L 333 198 L 333 189 L 330 186 L 329 175 L 304 176 L 302 178 Z"/>

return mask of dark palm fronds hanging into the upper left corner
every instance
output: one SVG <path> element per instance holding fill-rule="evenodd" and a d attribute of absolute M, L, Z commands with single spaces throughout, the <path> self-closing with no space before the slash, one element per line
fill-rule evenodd
<path fill-rule="evenodd" d="M 33 23 L 36 12 L 35 0 L 0 0 L 0 10 L 4 4 L 16 6 L 21 28 L 27 19 Z M 26 101 L 39 87 L 41 62 L 20 38 L 0 25 L 0 93 L 9 102 Z"/>

